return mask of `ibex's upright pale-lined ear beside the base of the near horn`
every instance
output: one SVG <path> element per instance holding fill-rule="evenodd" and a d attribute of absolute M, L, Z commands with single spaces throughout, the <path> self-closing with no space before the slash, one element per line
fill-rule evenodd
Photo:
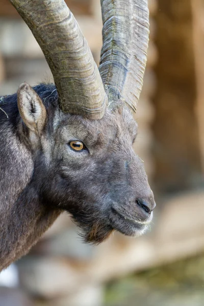
<path fill-rule="evenodd" d="M 25 125 L 35 134 L 42 133 L 46 109 L 39 95 L 27 83 L 22 83 L 17 92 L 18 110 Z"/>

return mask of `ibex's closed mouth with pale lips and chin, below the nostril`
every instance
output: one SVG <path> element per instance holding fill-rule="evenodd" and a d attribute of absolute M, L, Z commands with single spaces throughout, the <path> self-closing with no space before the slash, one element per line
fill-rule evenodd
<path fill-rule="evenodd" d="M 125 236 L 138 237 L 144 234 L 144 232 L 149 227 L 149 224 L 152 220 L 153 214 L 149 216 L 145 221 L 141 221 L 138 219 L 133 219 L 127 217 L 120 212 L 118 212 L 115 208 L 111 209 L 110 222 L 111 226 L 114 230 L 120 232 Z"/>

